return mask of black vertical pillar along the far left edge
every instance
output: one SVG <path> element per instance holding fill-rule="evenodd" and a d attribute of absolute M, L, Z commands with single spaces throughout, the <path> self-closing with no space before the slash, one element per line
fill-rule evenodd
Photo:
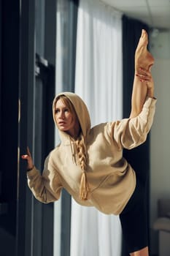
<path fill-rule="evenodd" d="M 0 2 L 0 254 L 15 255 L 20 2 Z"/>

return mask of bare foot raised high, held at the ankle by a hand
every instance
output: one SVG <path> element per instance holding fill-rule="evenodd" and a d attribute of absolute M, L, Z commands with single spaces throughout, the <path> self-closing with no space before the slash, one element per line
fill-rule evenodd
<path fill-rule="evenodd" d="M 147 44 L 148 44 L 147 32 L 144 29 L 142 29 L 142 34 L 141 34 L 139 43 L 138 43 L 136 51 L 135 51 L 135 69 L 136 69 L 136 71 L 140 67 L 150 70 L 152 65 L 154 64 L 153 56 L 147 50 Z"/>

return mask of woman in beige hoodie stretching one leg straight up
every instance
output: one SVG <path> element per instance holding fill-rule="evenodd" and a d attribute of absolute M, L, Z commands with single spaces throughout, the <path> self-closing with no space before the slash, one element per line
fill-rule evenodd
<path fill-rule="evenodd" d="M 123 148 L 139 146 L 150 132 L 156 102 L 152 64 L 147 33 L 142 30 L 135 54 L 130 117 L 91 128 L 82 99 L 71 92 L 61 93 L 53 101 L 61 143 L 45 159 L 42 175 L 29 150 L 22 156 L 28 162 L 28 186 L 37 200 L 58 200 L 64 187 L 80 205 L 120 215 L 130 255 L 148 255 L 147 221 L 144 181 L 123 158 Z"/>

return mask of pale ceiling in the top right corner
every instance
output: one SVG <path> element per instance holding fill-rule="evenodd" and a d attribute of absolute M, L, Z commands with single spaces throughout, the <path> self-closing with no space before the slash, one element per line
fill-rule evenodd
<path fill-rule="evenodd" d="M 152 29 L 170 29 L 170 0 L 101 0 Z"/>

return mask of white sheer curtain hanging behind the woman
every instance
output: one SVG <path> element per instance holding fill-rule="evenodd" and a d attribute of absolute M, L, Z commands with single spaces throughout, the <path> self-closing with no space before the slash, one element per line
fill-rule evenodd
<path fill-rule="evenodd" d="M 75 92 L 92 125 L 122 118 L 121 13 L 101 1 L 80 0 Z M 71 256 L 119 256 L 120 250 L 119 218 L 72 200 Z"/>

